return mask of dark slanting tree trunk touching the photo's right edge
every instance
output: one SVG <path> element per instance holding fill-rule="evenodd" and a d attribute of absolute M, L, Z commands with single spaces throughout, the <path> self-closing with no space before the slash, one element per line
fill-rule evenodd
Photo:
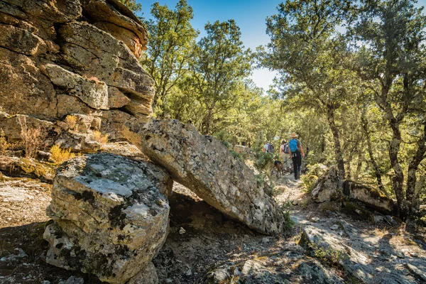
<path fill-rule="evenodd" d="M 417 151 L 411 160 L 410 165 L 408 165 L 408 174 L 407 174 L 407 192 L 406 198 L 410 203 L 410 207 L 416 207 L 416 176 L 415 173 L 417 171 L 420 162 L 425 158 L 426 151 L 426 121 L 423 124 L 423 136 L 417 141 Z M 418 209 L 418 208 L 417 208 Z"/>

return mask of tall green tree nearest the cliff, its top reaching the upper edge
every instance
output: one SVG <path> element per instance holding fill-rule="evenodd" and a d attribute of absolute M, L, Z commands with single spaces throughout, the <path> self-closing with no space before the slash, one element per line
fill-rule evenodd
<path fill-rule="evenodd" d="M 142 64 L 155 81 L 153 109 L 162 116 L 170 92 L 187 73 L 198 31 L 191 26 L 193 11 L 186 0 L 180 0 L 174 11 L 156 2 L 151 15 L 147 23 L 150 42 Z"/>

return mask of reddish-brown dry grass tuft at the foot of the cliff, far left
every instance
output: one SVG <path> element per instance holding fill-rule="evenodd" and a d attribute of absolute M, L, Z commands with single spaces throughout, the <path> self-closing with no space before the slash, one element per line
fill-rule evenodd
<path fill-rule="evenodd" d="M 34 158 L 40 148 L 44 146 L 41 138 L 41 129 L 29 128 L 26 124 L 26 117 L 18 117 L 18 124 L 21 126 L 22 146 L 25 149 L 26 158 Z"/>

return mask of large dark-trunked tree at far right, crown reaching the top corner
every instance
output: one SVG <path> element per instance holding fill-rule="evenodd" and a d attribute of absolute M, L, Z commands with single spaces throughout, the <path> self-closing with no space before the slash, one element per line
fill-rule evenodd
<path fill-rule="evenodd" d="M 361 42 L 355 70 L 388 121 L 392 131 L 388 154 L 393 168 L 393 190 L 405 218 L 416 204 L 416 171 L 425 158 L 425 28 L 426 16 L 414 1 L 361 1 L 349 18 L 355 44 Z M 400 161 L 403 124 L 411 119 L 417 140 L 409 166 L 404 196 L 404 173 Z"/>

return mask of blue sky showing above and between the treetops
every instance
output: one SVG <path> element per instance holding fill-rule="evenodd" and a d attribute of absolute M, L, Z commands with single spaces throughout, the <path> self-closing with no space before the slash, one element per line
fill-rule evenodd
<path fill-rule="evenodd" d="M 178 0 L 137 0 L 142 4 L 143 16 L 150 18 L 151 5 L 159 2 L 175 9 Z M 266 17 L 276 13 L 276 7 L 283 0 L 187 0 L 194 9 L 192 26 L 204 35 L 204 25 L 207 21 L 226 21 L 234 19 L 241 29 L 241 40 L 246 48 L 255 50 L 258 45 L 266 45 L 269 37 L 266 35 Z M 418 1 L 418 6 L 426 6 L 426 0 Z M 272 83 L 275 72 L 266 69 L 253 70 L 251 79 L 267 90 Z"/>

